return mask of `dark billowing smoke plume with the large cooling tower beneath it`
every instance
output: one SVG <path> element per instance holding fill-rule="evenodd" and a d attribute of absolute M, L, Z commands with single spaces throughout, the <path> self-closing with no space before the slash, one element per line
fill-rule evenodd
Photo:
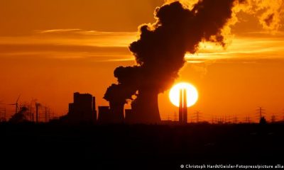
<path fill-rule="evenodd" d="M 156 22 L 141 25 L 140 38 L 129 45 L 136 66 L 116 68 L 118 84 L 111 85 L 104 98 L 125 103 L 136 95 L 132 109 L 137 121 L 158 122 L 158 94 L 173 85 L 185 64 L 185 53 L 197 52 L 204 41 L 224 46 L 224 30 L 236 23 L 236 12 L 258 11 L 246 7 L 253 2 L 256 4 L 253 0 L 200 0 L 195 4 L 174 1 L 156 8 Z M 263 24 L 274 26 L 276 14 L 269 11 L 267 17 L 262 16 Z"/>

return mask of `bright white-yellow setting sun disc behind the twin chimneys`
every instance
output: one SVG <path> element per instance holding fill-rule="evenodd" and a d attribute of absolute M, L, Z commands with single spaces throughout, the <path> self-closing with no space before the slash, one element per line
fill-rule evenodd
<path fill-rule="evenodd" d="M 189 83 L 179 83 L 175 84 L 172 89 L 170 89 L 170 101 L 175 106 L 180 104 L 180 89 L 185 89 L 187 91 L 187 107 L 193 106 L 198 99 L 198 92 L 195 86 Z"/>

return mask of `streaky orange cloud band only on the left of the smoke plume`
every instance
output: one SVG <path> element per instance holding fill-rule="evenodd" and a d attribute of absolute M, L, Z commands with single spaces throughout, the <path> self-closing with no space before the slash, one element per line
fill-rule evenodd
<path fill-rule="evenodd" d="M 136 39 L 136 34 L 81 29 L 36 30 L 29 36 L 1 37 L 0 58 L 92 58 L 97 62 L 125 62 L 133 60 L 128 45 Z"/>

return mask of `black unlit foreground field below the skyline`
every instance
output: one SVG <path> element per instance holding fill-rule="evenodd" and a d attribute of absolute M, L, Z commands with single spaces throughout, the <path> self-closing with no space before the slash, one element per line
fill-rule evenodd
<path fill-rule="evenodd" d="M 180 164 L 284 164 L 283 124 L 2 124 L 0 135 L 0 162 L 22 166 L 180 169 Z"/>

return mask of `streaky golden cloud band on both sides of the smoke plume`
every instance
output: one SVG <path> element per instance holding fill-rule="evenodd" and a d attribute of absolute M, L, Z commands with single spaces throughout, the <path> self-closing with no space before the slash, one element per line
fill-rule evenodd
<path fill-rule="evenodd" d="M 53 59 L 92 58 L 97 62 L 134 61 L 127 49 L 136 32 L 104 32 L 82 29 L 37 30 L 33 35 L 0 38 L 0 57 L 36 56 Z M 195 55 L 185 55 L 188 64 L 224 62 L 224 60 L 261 60 L 284 57 L 284 32 L 274 35 L 255 31 L 231 36 L 224 49 L 214 43 L 201 42 Z"/>

